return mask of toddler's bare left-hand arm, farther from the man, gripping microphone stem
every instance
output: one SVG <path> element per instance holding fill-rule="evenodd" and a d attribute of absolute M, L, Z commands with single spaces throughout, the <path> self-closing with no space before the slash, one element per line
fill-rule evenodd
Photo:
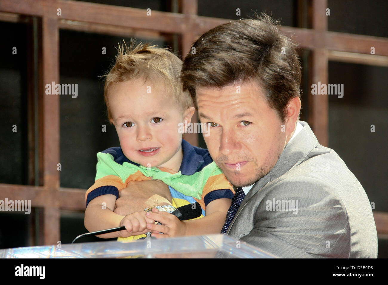
<path fill-rule="evenodd" d="M 113 212 L 116 196 L 100 195 L 91 200 L 86 207 L 84 225 L 88 231 L 106 230 L 125 226 L 126 230 L 97 235 L 100 238 L 130 237 L 146 233 L 147 223 L 155 221 L 145 217 L 145 212 L 135 212 L 128 216 L 121 216 Z M 105 203 L 105 204 L 103 204 Z"/>

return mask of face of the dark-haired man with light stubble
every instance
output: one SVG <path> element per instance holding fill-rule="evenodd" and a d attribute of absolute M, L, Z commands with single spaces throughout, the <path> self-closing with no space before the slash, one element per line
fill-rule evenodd
<path fill-rule="evenodd" d="M 248 186 L 276 164 L 286 143 L 277 112 L 270 108 L 256 83 L 222 89 L 196 88 L 201 123 L 209 123 L 204 136 L 211 157 L 235 186 Z"/>

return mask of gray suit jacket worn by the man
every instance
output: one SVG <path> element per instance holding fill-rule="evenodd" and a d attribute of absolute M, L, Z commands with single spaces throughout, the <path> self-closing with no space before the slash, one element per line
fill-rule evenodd
<path fill-rule="evenodd" d="M 248 192 L 228 234 L 278 257 L 377 257 L 369 199 L 306 122 Z"/>

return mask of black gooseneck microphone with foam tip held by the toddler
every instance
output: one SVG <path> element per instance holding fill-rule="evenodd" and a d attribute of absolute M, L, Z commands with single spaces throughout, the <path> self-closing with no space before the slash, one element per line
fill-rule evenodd
<path fill-rule="evenodd" d="M 201 216 L 202 208 L 198 202 L 195 202 L 193 204 L 188 204 L 188 205 L 179 207 L 171 214 L 176 216 L 180 221 L 185 221 L 185 220 L 195 219 Z M 78 240 L 81 237 L 89 237 L 91 235 L 102 235 L 104 233 L 113 233 L 114 231 L 122 231 L 122 230 L 125 230 L 125 226 L 119 226 L 117 228 L 110 228 L 107 230 L 92 231 L 91 233 L 83 233 L 82 235 L 79 235 L 76 238 L 74 238 L 74 240 L 71 243 L 73 244 L 76 240 Z"/>

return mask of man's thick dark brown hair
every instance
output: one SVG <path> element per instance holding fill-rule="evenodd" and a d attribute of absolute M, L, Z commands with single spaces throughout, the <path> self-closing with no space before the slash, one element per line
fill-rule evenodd
<path fill-rule="evenodd" d="M 296 44 L 279 31 L 272 16 L 227 22 L 194 43 L 182 67 L 184 90 L 197 107 L 196 87 L 218 87 L 252 79 L 282 122 L 286 106 L 300 97 L 301 67 Z M 283 50 L 283 54 L 282 54 Z"/>

